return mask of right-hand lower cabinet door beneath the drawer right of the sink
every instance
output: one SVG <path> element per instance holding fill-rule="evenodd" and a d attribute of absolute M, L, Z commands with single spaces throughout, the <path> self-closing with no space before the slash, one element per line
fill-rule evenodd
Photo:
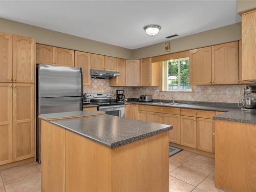
<path fill-rule="evenodd" d="M 212 153 L 213 121 L 212 119 L 197 118 L 197 148 Z"/>

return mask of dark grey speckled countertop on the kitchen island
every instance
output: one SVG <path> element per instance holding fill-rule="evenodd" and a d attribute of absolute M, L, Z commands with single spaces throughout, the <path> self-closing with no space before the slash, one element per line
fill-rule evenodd
<path fill-rule="evenodd" d="M 56 117 L 59 115 L 46 114 L 40 115 L 40 118 L 53 116 Z M 110 148 L 116 148 L 173 129 L 171 125 L 105 114 L 51 120 L 49 122 Z"/>

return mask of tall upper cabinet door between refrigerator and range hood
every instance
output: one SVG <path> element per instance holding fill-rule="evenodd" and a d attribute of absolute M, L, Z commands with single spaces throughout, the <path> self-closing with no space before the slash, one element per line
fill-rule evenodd
<path fill-rule="evenodd" d="M 82 81 L 84 86 L 91 84 L 91 54 L 75 51 L 75 67 L 82 68 Z"/>

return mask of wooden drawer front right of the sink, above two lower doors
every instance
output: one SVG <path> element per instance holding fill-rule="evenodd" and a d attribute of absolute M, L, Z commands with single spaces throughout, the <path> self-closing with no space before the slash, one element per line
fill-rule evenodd
<path fill-rule="evenodd" d="M 189 109 L 180 109 L 180 114 L 190 117 L 201 117 L 212 119 L 215 116 L 215 111 L 204 111 L 204 110 L 189 110 Z"/>

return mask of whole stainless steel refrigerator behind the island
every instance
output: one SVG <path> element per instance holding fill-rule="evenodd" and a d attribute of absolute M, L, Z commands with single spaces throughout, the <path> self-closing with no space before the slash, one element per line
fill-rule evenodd
<path fill-rule="evenodd" d="M 49 65 L 37 67 L 37 117 L 40 114 L 82 110 L 82 69 Z M 41 160 L 41 129 L 37 121 L 37 160 Z"/>

